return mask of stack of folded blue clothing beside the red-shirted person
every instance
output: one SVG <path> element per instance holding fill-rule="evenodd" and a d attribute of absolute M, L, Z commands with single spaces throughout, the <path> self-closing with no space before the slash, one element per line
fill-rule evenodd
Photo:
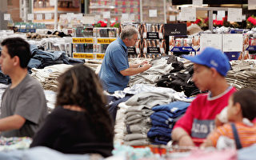
<path fill-rule="evenodd" d="M 171 102 L 170 104 L 154 106 L 154 114 L 150 115 L 152 127 L 147 137 L 153 144 L 164 144 L 171 140 L 170 134 L 174 123 L 186 112 L 189 102 Z"/>

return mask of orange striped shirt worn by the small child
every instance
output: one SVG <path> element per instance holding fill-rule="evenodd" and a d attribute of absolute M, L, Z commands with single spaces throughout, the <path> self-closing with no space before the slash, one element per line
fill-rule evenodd
<path fill-rule="evenodd" d="M 250 146 L 256 143 L 256 123 L 254 123 L 254 126 L 247 126 L 242 122 L 235 122 L 235 126 L 238 130 L 238 136 L 240 138 L 242 147 Z M 227 123 L 224 126 L 219 126 L 210 134 L 210 140 L 215 147 L 217 146 L 218 138 L 220 136 L 226 136 L 234 139 L 234 134 L 230 123 Z"/>

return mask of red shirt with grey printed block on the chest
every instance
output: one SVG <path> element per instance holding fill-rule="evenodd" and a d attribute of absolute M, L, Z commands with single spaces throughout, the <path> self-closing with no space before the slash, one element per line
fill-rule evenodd
<path fill-rule="evenodd" d="M 230 95 L 235 91 L 236 89 L 230 86 L 224 93 L 214 98 L 210 98 L 210 93 L 198 94 L 174 128 L 181 127 L 190 134 L 191 138 L 206 138 L 215 128 L 216 115 L 228 105 Z"/>

